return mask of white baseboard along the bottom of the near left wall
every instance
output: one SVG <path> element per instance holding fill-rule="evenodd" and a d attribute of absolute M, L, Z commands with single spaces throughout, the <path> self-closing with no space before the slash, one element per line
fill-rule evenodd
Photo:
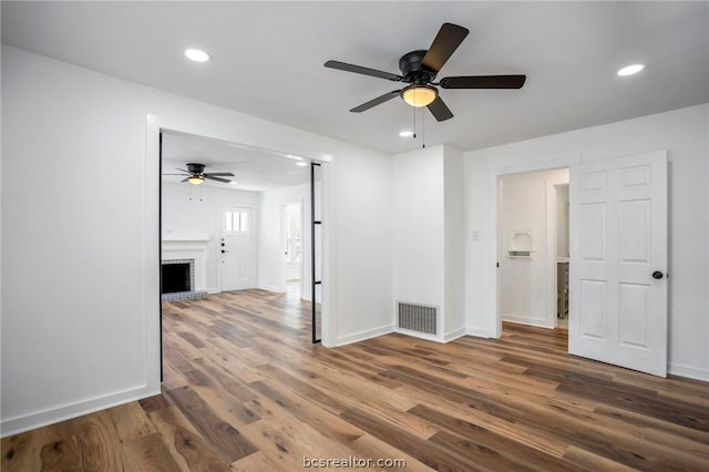
<path fill-rule="evenodd" d="M 160 389 L 152 391 L 147 390 L 146 386 L 140 386 L 129 390 L 81 401 L 79 403 L 65 404 L 22 417 L 10 418 L 8 420 L 2 420 L 0 423 L 0 437 L 6 438 L 156 394 L 160 394 Z"/>

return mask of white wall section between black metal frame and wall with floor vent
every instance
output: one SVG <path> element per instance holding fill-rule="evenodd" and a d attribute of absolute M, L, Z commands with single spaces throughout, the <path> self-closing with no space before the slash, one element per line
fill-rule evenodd
<path fill-rule="evenodd" d="M 337 326 L 322 320 L 323 340 L 328 331 L 337 345 L 391 331 L 391 168 L 389 156 L 352 146 L 323 170 L 322 225 L 337 244 L 330 248 L 331 242 L 323 240 L 323 261 L 332 252 L 337 261 L 335 273 L 322 276 L 322 296 L 329 296 L 329 277 L 338 314 Z"/>

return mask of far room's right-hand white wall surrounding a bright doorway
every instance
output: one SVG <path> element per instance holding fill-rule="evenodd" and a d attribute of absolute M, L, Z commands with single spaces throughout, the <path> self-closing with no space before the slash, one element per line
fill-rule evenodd
<path fill-rule="evenodd" d="M 286 188 L 260 192 L 258 194 L 258 288 L 285 291 L 284 261 L 284 206 L 299 203 L 302 216 L 302 279 L 301 295 L 310 299 L 312 287 L 310 266 L 310 185 L 302 184 Z"/>

